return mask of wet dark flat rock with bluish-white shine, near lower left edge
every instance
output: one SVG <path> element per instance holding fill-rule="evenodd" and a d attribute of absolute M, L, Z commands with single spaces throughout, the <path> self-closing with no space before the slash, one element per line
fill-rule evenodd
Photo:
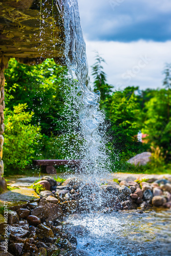
<path fill-rule="evenodd" d="M 29 234 L 29 225 L 23 223 L 8 226 L 8 232 L 18 238 L 26 238 Z"/>

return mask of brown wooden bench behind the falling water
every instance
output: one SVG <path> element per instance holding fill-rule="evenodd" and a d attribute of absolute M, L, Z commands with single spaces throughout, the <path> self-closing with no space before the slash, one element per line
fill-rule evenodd
<path fill-rule="evenodd" d="M 79 166 L 81 160 L 33 160 L 33 165 L 45 166 L 48 174 L 56 174 L 54 165 L 73 165 Z"/>

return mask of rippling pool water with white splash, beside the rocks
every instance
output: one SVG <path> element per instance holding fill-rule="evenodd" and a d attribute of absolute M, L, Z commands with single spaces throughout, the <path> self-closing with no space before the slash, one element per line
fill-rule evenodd
<path fill-rule="evenodd" d="M 77 240 L 78 248 L 90 256 L 171 255 L 170 210 L 73 215 L 68 221 L 89 231 Z"/>

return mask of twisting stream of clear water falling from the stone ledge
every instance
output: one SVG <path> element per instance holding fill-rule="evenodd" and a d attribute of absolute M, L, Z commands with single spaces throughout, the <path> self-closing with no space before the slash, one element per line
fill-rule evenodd
<path fill-rule="evenodd" d="M 103 177 L 110 165 L 105 152 L 104 113 L 99 110 L 100 92 L 91 91 L 86 44 L 83 39 L 77 0 L 63 0 L 62 16 L 65 27 L 65 57 L 70 77 L 75 81 L 71 90 L 78 110 L 80 136 L 83 137 L 80 159 L 84 172 Z M 74 114 L 75 115 L 75 114 Z M 99 129 L 100 127 L 100 129 Z M 96 177 L 97 179 L 97 177 Z"/>

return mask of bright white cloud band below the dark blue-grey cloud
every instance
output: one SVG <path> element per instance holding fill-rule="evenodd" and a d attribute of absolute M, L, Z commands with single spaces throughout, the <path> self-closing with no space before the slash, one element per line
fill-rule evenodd
<path fill-rule="evenodd" d="M 89 68 L 95 62 L 96 50 L 107 63 L 104 71 L 108 82 L 116 89 L 126 86 L 139 86 L 141 90 L 162 87 L 164 65 L 171 62 L 171 41 L 124 43 L 87 40 L 86 44 Z"/>

